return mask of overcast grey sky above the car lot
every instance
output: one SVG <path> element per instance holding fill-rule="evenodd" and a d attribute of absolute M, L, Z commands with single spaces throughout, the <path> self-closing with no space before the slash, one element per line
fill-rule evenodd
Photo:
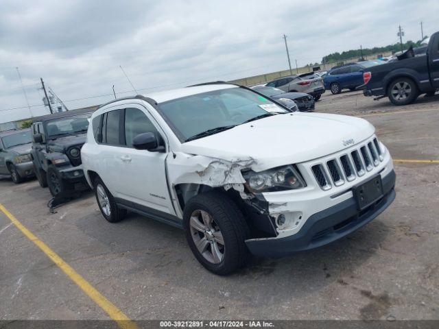
<path fill-rule="evenodd" d="M 40 115 L 49 111 L 40 77 L 73 109 L 113 99 L 113 85 L 118 97 L 133 95 L 119 65 L 143 94 L 270 73 L 287 69 L 284 33 L 299 66 L 397 42 L 399 24 L 404 40 L 420 39 L 420 21 L 431 35 L 439 1 L 420 3 L 0 0 L 0 123 L 31 115 L 17 66 Z"/>

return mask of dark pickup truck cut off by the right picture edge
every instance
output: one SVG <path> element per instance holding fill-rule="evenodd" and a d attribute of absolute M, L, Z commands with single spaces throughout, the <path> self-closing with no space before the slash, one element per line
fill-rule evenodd
<path fill-rule="evenodd" d="M 434 95 L 439 88 L 439 32 L 433 34 L 427 51 L 415 56 L 410 49 L 399 59 L 373 66 L 363 73 L 365 96 L 389 97 L 394 105 L 412 103 L 419 95 Z"/>

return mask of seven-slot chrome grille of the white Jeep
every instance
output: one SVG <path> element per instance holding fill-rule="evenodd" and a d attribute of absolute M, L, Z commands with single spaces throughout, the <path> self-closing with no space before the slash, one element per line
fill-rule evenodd
<path fill-rule="evenodd" d="M 383 149 L 377 138 L 373 138 L 342 156 L 313 164 L 311 170 L 320 187 L 329 190 L 332 186 L 343 185 L 346 181 L 361 177 L 366 171 L 372 171 L 383 160 Z"/>

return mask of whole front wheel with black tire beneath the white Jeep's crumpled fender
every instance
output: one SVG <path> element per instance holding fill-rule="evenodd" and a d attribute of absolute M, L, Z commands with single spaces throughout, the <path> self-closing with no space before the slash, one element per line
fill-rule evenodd
<path fill-rule="evenodd" d="M 183 213 L 187 243 L 209 271 L 225 276 L 244 266 L 248 226 L 235 202 L 217 191 L 189 200 Z"/>

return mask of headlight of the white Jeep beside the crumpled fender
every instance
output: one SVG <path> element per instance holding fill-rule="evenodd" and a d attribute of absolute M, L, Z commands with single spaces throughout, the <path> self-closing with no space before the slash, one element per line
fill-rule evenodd
<path fill-rule="evenodd" d="M 307 186 L 298 170 L 292 165 L 260 173 L 243 171 L 242 174 L 253 192 L 285 191 Z"/>

